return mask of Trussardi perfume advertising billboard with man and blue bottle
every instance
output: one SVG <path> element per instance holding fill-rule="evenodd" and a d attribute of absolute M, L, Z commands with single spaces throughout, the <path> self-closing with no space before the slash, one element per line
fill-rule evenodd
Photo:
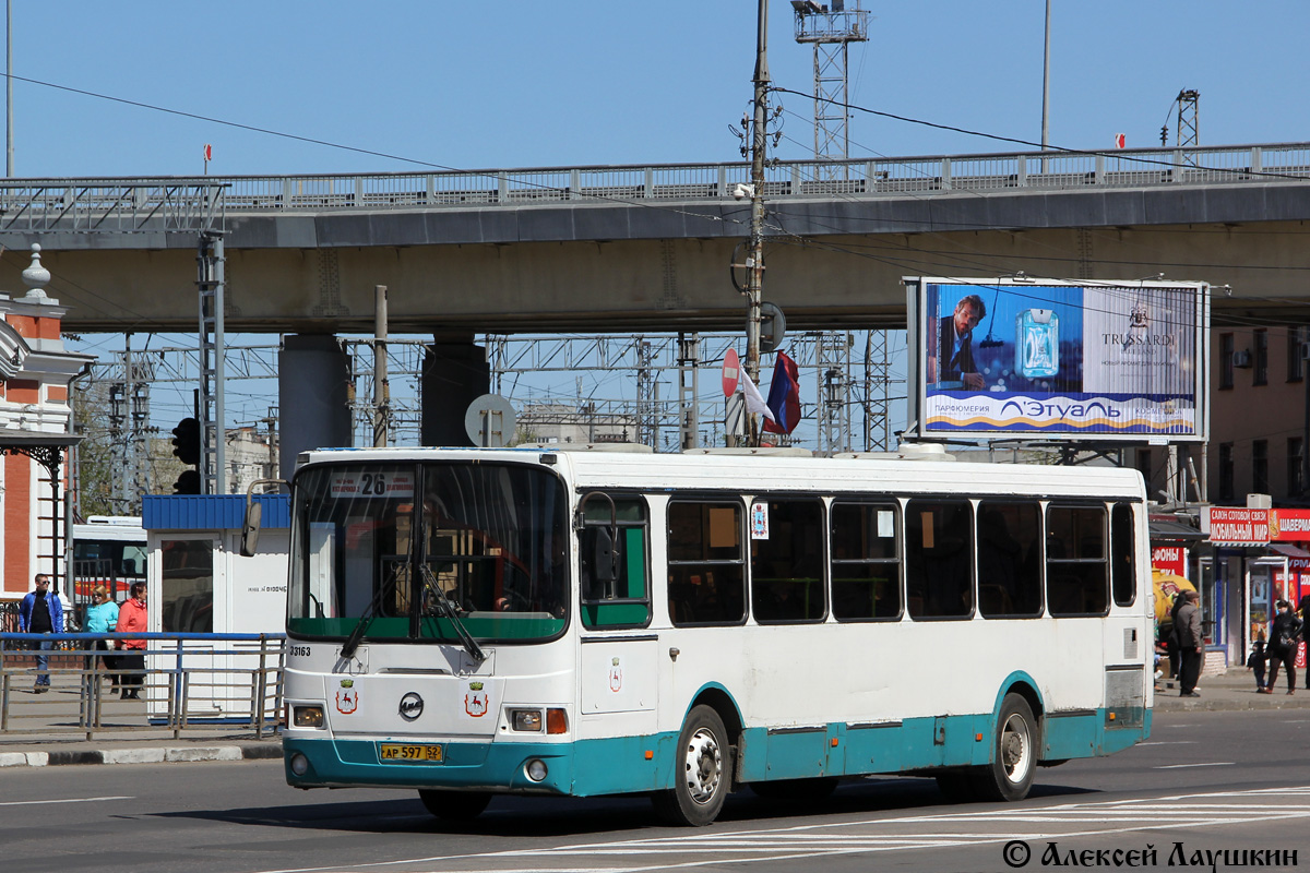
<path fill-rule="evenodd" d="M 1205 283 L 905 285 L 916 436 L 1205 440 Z"/>

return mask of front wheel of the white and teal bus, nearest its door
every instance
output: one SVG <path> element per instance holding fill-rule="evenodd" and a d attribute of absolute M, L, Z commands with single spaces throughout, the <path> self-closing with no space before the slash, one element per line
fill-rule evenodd
<path fill-rule="evenodd" d="M 673 788 L 651 797 L 655 813 L 671 825 L 701 827 L 719 815 L 732 787 L 732 750 L 727 729 L 713 708 L 694 707 L 677 737 Z"/>

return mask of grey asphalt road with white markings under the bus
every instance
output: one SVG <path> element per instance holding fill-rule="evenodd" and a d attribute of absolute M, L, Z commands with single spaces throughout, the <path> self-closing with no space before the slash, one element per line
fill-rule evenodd
<path fill-rule="evenodd" d="M 1237 866 L 1205 855 L 1224 851 L 1310 866 L 1307 741 L 1310 711 L 1157 713 L 1148 743 L 1039 771 L 1023 804 L 951 806 L 931 780 L 872 779 L 807 809 L 741 792 L 698 830 L 660 826 L 645 798 L 496 798 L 452 826 L 411 792 L 291 789 L 280 762 L 16 768 L 0 772 L 0 870 Z M 1138 855 L 1116 865 L 1116 849 Z"/>

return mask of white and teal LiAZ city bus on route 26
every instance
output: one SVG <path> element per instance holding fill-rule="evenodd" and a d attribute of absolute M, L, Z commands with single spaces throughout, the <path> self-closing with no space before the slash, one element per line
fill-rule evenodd
<path fill-rule="evenodd" d="M 1150 733 L 1132 470 L 359 449 L 291 488 L 291 785 L 724 797 L 934 776 L 1022 800 Z"/>

